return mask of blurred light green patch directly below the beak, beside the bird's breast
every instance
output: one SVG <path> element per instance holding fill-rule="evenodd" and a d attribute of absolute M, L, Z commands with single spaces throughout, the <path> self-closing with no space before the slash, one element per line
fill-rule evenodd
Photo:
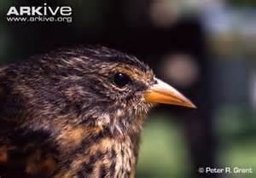
<path fill-rule="evenodd" d="M 187 177 L 190 164 L 186 164 L 189 155 L 183 129 L 165 116 L 153 115 L 149 120 L 143 130 L 137 177 Z"/>

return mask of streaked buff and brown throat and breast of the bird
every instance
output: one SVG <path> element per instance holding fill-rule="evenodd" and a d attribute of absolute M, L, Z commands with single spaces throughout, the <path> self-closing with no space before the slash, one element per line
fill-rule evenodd
<path fill-rule="evenodd" d="M 61 127 L 56 140 L 61 147 L 60 158 L 67 159 L 61 160 L 65 169 L 56 173 L 56 178 L 134 177 L 143 120 L 125 118 L 117 111 L 101 114 L 92 124 Z"/>

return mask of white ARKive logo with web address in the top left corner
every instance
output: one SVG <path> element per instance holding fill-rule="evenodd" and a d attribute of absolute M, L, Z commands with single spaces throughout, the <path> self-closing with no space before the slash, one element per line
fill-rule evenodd
<path fill-rule="evenodd" d="M 7 12 L 8 21 L 67 21 L 72 22 L 73 9 L 70 6 L 11 6 Z"/>

